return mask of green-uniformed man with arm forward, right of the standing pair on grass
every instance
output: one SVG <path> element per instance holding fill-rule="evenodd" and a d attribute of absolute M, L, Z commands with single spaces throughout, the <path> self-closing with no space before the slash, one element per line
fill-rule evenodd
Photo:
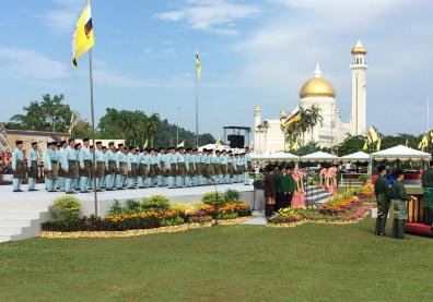
<path fill-rule="evenodd" d="M 408 210 L 406 202 L 416 200 L 413 196 L 406 194 L 406 188 L 402 183 L 405 179 L 403 171 L 397 171 L 397 180 L 391 185 L 389 196 L 391 200 L 391 207 L 394 210 L 393 237 L 397 239 L 406 239 L 405 237 L 405 221 L 408 219 Z"/>

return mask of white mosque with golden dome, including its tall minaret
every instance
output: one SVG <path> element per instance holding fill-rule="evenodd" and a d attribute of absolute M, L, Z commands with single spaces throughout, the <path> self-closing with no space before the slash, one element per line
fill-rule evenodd
<path fill-rule="evenodd" d="M 337 93 L 332 84 L 326 81 L 319 65 L 312 78 L 301 87 L 300 107 L 303 109 L 317 107 L 323 117 L 321 124 L 318 123 L 312 131 L 305 133 L 305 142 L 316 142 L 321 147 L 330 147 L 344 141 L 350 135 L 366 134 L 366 82 L 365 62 L 366 48 L 358 41 L 352 48 L 352 108 L 350 122 L 341 120 L 341 109 L 336 104 Z M 281 110 L 280 117 L 286 116 Z M 267 124 L 267 129 L 257 131 L 258 125 Z M 281 131 L 280 119 L 261 120 L 261 107 L 254 107 L 254 146 L 257 153 L 284 150 L 284 134 Z"/>

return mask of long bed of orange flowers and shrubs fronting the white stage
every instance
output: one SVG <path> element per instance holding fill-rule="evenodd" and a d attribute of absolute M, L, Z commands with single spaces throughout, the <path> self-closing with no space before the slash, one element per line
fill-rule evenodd
<path fill-rule="evenodd" d="M 214 219 L 238 224 L 251 215 L 249 205 L 241 202 L 224 203 L 221 206 L 206 204 L 171 205 L 164 196 L 151 196 L 140 201 L 127 201 L 124 206 L 114 204 L 109 215 L 104 218 L 82 217 L 77 215 L 60 218 L 43 224 L 44 237 L 66 237 L 65 233 L 74 233 L 71 237 L 106 237 L 137 235 L 154 233 L 149 230 L 161 231 L 185 230 L 189 226 L 211 226 Z M 230 224 L 230 222 L 227 222 Z M 94 233 L 100 232 L 101 235 Z M 157 231 L 160 232 L 160 231 Z"/>

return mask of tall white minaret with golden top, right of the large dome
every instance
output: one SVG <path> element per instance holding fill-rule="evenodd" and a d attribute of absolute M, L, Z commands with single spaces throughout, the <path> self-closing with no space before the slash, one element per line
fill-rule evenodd
<path fill-rule="evenodd" d="M 366 48 L 359 40 L 352 48 L 353 62 L 352 70 L 352 112 L 350 114 L 350 126 L 352 135 L 366 133 L 366 82 L 365 63 Z"/>

